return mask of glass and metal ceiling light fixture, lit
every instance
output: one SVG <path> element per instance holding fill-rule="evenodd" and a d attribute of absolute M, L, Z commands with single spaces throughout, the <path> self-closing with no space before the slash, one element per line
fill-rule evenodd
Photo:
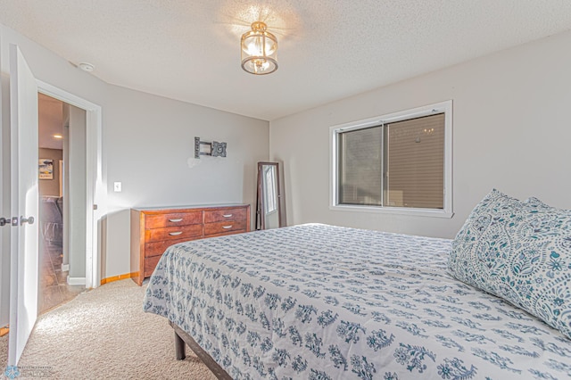
<path fill-rule="evenodd" d="M 277 70 L 277 38 L 266 31 L 261 21 L 252 23 L 252 30 L 242 35 L 242 69 L 263 75 Z"/>

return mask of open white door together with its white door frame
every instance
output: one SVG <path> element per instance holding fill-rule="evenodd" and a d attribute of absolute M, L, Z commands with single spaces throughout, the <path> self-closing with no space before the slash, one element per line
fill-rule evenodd
<path fill-rule="evenodd" d="M 83 229 L 85 245 L 80 251 L 85 254 L 85 285 L 87 288 L 100 285 L 100 257 L 97 241 L 99 220 L 105 214 L 106 196 L 102 175 L 102 107 L 72 95 L 58 87 L 34 78 L 18 45 L 10 45 L 10 139 L 11 160 L 9 178 L 2 175 L 3 189 L 10 187 L 10 210 L 17 215 L 11 218 L 10 256 L 11 265 L 2 270 L 2 294 L 4 278 L 10 282 L 10 335 L 8 363 L 16 365 L 37 318 L 37 280 L 39 237 L 38 223 L 32 217 L 38 215 L 38 157 L 37 157 L 37 94 L 50 95 L 83 110 L 86 145 L 86 163 L 83 178 L 86 178 L 85 199 L 78 207 L 86 211 Z M 4 108 L 4 107 L 3 107 Z M 4 135 L 4 128 L 3 128 Z M 5 143 L 3 142 L 3 146 Z M 31 154 L 30 154 L 31 153 Z M 15 157 L 15 159 L 14 159 Z M 4 168 L 4 165 L 3 165 Z M 2 170 L 4 171 L 4 170 Z M 20 191 L 22 190 L 22 192 Z M 26 195 L 33 196 L 26 196 Z M 3 199 L 4 206 L 4 199 Z M 98 207 L 100 206 L 100 207 Z M 26 215 L 25 218 L 23 215 Z M 26 223 L 26 227 L 23 227 Z M 2 236 L 4 237 L 4 236 Z M 4 238 L 2 239 L 4 248 Z M 4 261 L 3 255 L 3 261 Z M 7 275 L 4 277 L 4 275 Z M 4 305 L 4 301 L 3 301 Z M 4 307 L 3 307 L 4 311 Z M 2 323 L 5 316 L 2 313 Z"/>

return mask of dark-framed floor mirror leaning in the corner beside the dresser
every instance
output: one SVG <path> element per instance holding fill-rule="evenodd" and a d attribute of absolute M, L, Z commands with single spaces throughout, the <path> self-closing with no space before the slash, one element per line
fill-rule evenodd
<path fill-rule="evenodd" d="M 258 162 L 256 229 L 282 227 L 279 163 Z"/>

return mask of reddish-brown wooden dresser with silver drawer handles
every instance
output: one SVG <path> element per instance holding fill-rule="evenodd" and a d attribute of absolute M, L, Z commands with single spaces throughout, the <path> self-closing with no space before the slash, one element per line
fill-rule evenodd
<path fill-rule="evenodd" d="M 131 278 L 142 285 L 172 244 L 250 231 L 250 205 L 131 209 Z"/>

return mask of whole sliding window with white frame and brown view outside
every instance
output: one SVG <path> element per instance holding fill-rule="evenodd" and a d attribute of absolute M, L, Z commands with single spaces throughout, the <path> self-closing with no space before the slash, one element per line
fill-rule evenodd
<path fill-rule="evenodd" d="M 451 217 L 451 101 L 331 128 L 332 207 Z"/>

